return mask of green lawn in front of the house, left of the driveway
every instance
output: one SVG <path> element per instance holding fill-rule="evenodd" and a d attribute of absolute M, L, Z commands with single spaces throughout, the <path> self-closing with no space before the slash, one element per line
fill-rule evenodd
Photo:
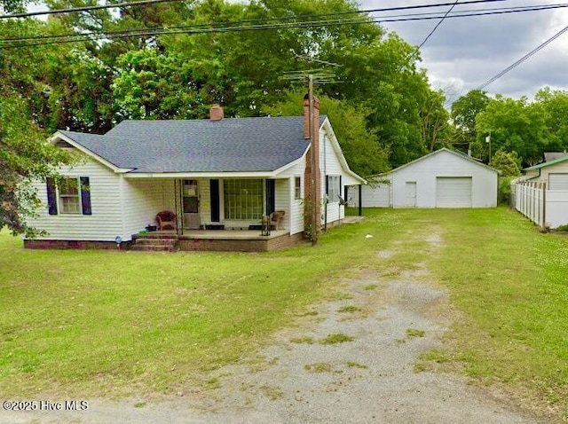
<path fill-rule="evenodd" d="M 210 371 L 254 355 L 314 302 L 350 297 L 344 273 L 389 239 L 359 231 L 315 248 L 176 255 L 27 250 L 0 232 L 0 395 L 208 387 Z"/>

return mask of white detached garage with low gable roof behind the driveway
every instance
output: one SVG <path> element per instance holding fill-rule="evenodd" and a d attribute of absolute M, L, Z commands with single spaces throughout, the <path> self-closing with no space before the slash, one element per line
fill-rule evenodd
<path fill-rule="evenodd" d="M 443 148 L 378 176 L 378 185 L 363 186 L 362 207 L 494 208 L 498 177 L 496 169 Z M 349 197 L 359 198 L 356 192 Z"/>

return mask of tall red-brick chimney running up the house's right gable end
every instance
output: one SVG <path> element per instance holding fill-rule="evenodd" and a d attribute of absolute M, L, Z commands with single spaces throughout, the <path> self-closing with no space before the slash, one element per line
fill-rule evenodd
<path fill-rule="evenodd" d="M 310 98 L 306 94 L 304 96 L 304 139 L 310 139 Z M 312 152 L 315 155 L 314 169 L 312 169 Z M 306 167 L 304 171 L 304 199 L 309 200 L 305 202 L 304 210 L 304 224 L 312 224 L 312 201 L 315 202 L 317 228 L 312 229 L 319 233 L 321 228 L 321 172 L 319 170 L 319 99 L 313 98 L 313 140 L 310 150 L 306 155 Z M 315 193 L 312 196 L 312 174 L 315 179 Z"/>

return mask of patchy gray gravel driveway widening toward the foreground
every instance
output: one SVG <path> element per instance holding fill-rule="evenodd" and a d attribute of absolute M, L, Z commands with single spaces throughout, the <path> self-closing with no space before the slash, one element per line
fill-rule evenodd
<path fill-rule="evenodd" d="M 430 253 L 440 243 L 430 236 Z M 377 252 L 387 261 L 396 251 Z M 441 345 L 446 293 L 428 270 L 361 271 L 277 334 L 249 365 L 212 376 L 207 397 L 91 401 L 83 412 L 12 413 L 1 422 L 85 423 L 535 423 L 502 397 L 463 378 L 425 371 L 422 352 Z M 445 322 L 446 321 L 446 322 Z M 335 335 L 327 339 L 328 336 Z M 335 342 L 335 343 L 334 343 Z M 138 407 L 135 406 L 138 402 Z M 141 407 L 140 407 L 141 406 Z M 2 413 L 2 412 L 0 412 Z M 549 421 L 548 421 L 549 422 Z"/>

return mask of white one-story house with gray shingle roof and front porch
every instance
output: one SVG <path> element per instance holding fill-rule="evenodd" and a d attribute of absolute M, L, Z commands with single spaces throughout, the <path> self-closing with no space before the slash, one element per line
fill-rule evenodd
<path fill-rule="evenodd" d="M 304 116 L 124 121 L 104 135 L 60 130 L 51 143 L 82 161 L 37 183 L 44 207 L 29 224 L 49 235 L 31 248 L 262 251 L 302 239 L 313 178 L 321 225 L 344 217 L 343 194 L 366 181 L 351 171 L 327 116 L 314 99 Z M 344 197 L 344 196 L 343 196 Z M 154 231 L 162 211 L 175 214 Z M 262 227 L 271 216 L 270 234 Z M 266 222 L 264 221 L 264 224 Z M 261 232 L 261 230 L 264 230 Z"/>

